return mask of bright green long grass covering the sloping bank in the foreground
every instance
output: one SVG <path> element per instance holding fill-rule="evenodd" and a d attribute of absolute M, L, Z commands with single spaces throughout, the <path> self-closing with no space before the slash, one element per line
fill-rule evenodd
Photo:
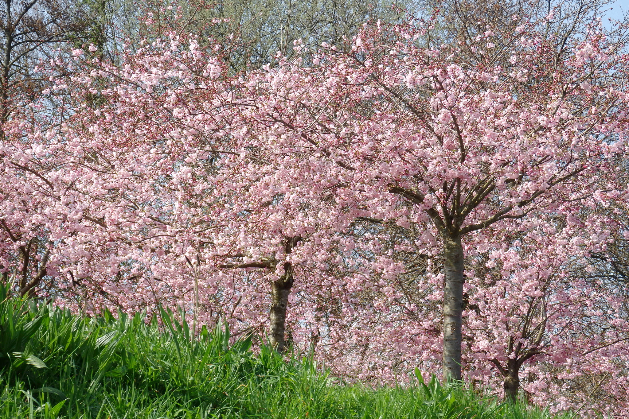
<path fill-rule="evenodd" d="M 0 284 L 0 419 L 550 418 L 435 378 L 331 384 L 308 359 L 267 347 L 254 355 L 249 339 L 230 344 L 227 327 L 192 337 L 170 310 L 159 317 L 72 315 L 6 298 Z"/>

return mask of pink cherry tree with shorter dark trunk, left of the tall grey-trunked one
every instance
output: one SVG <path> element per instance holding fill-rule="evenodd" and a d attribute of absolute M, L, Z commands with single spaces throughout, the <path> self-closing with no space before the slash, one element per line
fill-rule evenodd
<path fill-rule="evenodd" d="M 38 286 L 42 297 L 74 293 L 92 310 L 99 304 L 128 310 L 165 301 L 194 307 L 196 316 L 203 306 L 206 322 L 213 314 L 245 318 L 254 330 L 265 322 L 252 308 L 264 313 L 260 298 L 269 293 L 270 343 L 282 351 L 294 283 L 291 259 L 311 260 L 300 256 L 301 248 L 315 253 L 311 242 L 318 235 L 314 225 L 298 217 L 286 223 L 282 214 L 314 209 L 284 199 L 279 180 L 246 170 L 252 160 L 262 161 L 257 150 L 240 158 L 242 150 L 221 140 L 224 109 L 213 102 L 218 98 L 220 105 L 234 79 L 220 59 L 220 45 L 220 52 L 208 55 L 194 38 L 188 41 L 182 48 L 172 35 L 165 45 L 147 45 L 122 68 L 94 58 L 95 46 L 76 49 L 68 66 L 84 65 L 86 71 L 67 84 L 57 80 L 55 89 L 66 91 L 78 111 L 46 134 L 25 124 L 13 127 L 6 143 L 12 175 L 6 181 L 23 179 L 25 189 L 13 192 L 7 185 L 11 194 L 4 202 L 18 202 L 26 188 L 43 195 L 36 208 L 13 211 L 7 239 L 22 239 L 14 231 L 48 235 L 48 253 L 55 256 L 42 275 L 31 275 L 36 279 L 28 286 L 24 273 L 18 288 L 24 293 Z M 206 81 L 196 85 L 199 79 Z M 94 102 L 84 98 L 96 94 L 104 104 L 91 109 Z M 287 175 L 276 166 L 263 169 Z M 51 210 L 54 205 L 60 206 Z M 26 222 L 38 217 L 55 225 L 33 228 Z M 22 241 L 18 246 L 25 246 Z M 304 246 L 296 249 L 299 242 Z M 7 244 L 10 266 L 18 257 L 16 244 Z M 245 271 L 234 278 L 232 268 Z"/>

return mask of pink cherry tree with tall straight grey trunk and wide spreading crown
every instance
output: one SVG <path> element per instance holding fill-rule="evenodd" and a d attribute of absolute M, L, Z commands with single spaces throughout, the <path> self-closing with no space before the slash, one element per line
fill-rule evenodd
<path fill-rule="evenodd" d="M 391 195 L 422 210 L 413 222 L 434 226 L 443 245 L 443 362 L 455 379 L 463 237 L 623 195 L 605 176 L 625 151 L 623 45 L 596 26 L 572 45 L 538 27 L 487 28 L 476 57 L 456 43 L 419 46 L 423 30 L 365 30 L 351 52 L 331 47 L 311 66 L 249 74 L 245 85 L 264 93 L 238 97 L 245 141 L 312 153 L 357 215 L 388 217 Z M 507 59 L 486 53 L 494 49 Z"/>

